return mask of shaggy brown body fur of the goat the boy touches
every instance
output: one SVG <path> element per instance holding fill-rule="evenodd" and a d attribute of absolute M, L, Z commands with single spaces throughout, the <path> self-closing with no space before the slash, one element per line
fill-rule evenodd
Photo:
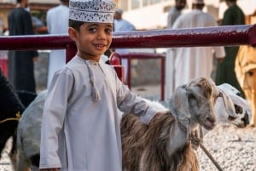
<path fill-rule="evenodd" d="M 198 170 L 198 161 L 189 142 L 169 157 L 166 145 L 170 125 L 174 122 L 175 117 L 170 113 L 153 118 L 148 126 L 135 115 L 125 115 L 121 123 L 123 168 L 127 171 Z"/>

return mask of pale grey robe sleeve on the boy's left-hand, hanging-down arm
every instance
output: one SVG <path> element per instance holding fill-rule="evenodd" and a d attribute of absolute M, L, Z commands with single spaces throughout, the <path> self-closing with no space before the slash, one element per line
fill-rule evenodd
<path fill-rule="evenodd" d="M 56 72 L 52 80 L 44 103 L 40 168 L 61 168 L 58 135 L 66 117 L 67 99 L 73 88 L 73 75 L 68 70 Z"/>

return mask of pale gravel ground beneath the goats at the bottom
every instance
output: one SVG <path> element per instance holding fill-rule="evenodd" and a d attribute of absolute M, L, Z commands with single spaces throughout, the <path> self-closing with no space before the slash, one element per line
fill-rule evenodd
<path fill-rule="evenodd" d="M 10 142 L 3 151 L 0 171 L 12 170 L 8 157 Z M 205 135 L 204 145 L 224 171 L 256 171 L 256 127 L 220 125 Z M 201 171 L 218 171 L 201 148 L 196 152 Z"/>

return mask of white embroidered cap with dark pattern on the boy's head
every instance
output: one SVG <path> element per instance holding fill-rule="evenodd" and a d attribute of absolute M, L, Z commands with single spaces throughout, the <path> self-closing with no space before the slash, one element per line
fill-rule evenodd
<path fill-rule="evenodd" d="M 113 23 L 115 3 L 110 0 L 70 0 L 69 19 Z"/>

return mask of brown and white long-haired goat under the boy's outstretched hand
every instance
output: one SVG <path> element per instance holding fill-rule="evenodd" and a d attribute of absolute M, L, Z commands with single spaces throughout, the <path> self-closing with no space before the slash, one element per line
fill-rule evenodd
<path fill-rule="evenodd" d="M 227 112 L 234 114 L 223 92 L 211 78 L 201 77 L 176 88 L 170 101 L 171 113 L 154 117 L 149 125 L 133 114 L 121 120 L 123 170 L 197 171 L 199 163 L 190 142 L 190 133 L 199 125 L 215 127 L 215 101 L 224 97 Z M 236 117 L 236 116 L 234 116 Z"/>

